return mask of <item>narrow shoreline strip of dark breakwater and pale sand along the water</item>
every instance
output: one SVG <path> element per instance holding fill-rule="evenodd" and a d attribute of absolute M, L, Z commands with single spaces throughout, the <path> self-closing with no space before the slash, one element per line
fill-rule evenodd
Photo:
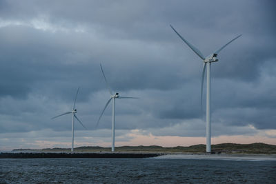
<path fill-rule="evenodd" d="M 1 152 L 0 159 L 210 159 L 276 161 L 276 154 L 208 154 L 208 153 L 161 153 L 161 152 Z"/>

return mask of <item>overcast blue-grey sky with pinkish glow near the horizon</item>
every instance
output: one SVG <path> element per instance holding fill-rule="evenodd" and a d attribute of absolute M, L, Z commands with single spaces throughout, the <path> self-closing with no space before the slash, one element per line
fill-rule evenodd
<path fill-rule="evenodd" d="M 200 108 L 204 56 L 239 34 L 212 65 L 212 143 L 276 145 L 275 1 L 0 0 L 0 150 L 205 144 Z M 206 88 L 204 88 L 206 89 Z M 206 94 L 204 90 L 204 95 Z M 205 96 L 204 96 L 205 102 Z M 205 103 L 204 103 L 205 105 Z M 205 109 L 205 108 L 204 108 Z M 205 113 L 205 112 L 204 112 Z"/>

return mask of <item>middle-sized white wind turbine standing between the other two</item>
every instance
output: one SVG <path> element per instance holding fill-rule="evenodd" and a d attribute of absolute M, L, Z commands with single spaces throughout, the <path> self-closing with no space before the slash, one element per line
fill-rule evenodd
<path fill-rule="evenodd" d="M 101 64 L 100 64 L 100 66 L 101 66 Z M 99 121 L 101 119 L 101 116 L 103 116 L 103 112 L 106 110 L 106 108 L 108 107 L 108 104 L 112 100 L 112 147 L 111 147 L 111 152 L 114 152 L 114 150 L 115 150 L 115 99 L 139 99 L 139 98 L 137 98 L 137 97 L 128 97 L 128 96 L 119 96 L 118 92 L 113 94 L 111 88 L 108 85 L 108 81 L 106 80 L 106 75 L 103 72 L 102 66 L 101 66 L 101 72 L 103 73 L 104 81 L 106 81 L 106 86 L 108 88 L 108 91 L 110 92 L 110 99 L 108 100 L 108 102 L 104 106 L 103 111 L 101 112 L 101 115 L 99 116 L 97 126 L 99 125 Z"/>

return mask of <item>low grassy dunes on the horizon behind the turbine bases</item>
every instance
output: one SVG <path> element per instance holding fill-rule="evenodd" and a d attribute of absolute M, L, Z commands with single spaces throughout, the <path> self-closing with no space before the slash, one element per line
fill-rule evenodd
<path fill-rule="evenodd" d="M 74 153 L 109 153 L 110 147 L 86 146 L 75 147 Z M 152 153 L 152 154 L 206 154 L 206 145 L 191 145 L 188 147 L 161 147 L 150 146 L 121 146 L 115 147 L 115 153 Z M 45 148 L 35 149 L 14 149 L 11 153 L 70 153 L 70 148 Z M 265 143 L 236 144 L 222 143 L 212 145 L 213 154 L 276 154 L 276 145 Z"/>

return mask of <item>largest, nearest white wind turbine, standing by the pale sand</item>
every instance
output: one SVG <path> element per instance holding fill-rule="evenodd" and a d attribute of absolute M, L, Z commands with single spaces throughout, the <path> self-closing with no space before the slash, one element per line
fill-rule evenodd
<path fill-rule="evenodd" d="M 224 46 L 222 46 L 221 48 L 219 48 L 219 50 L 215 51 L 214 53 L 210 54 L 208 57 L 204 57 L 204 55 L 200 52 L 200 50 L 198 50 L 197 48 L 195 48 L 195 46 L 193 46 L 192 44 L 190 44 L 188 41 L 186 41 L 186 39 L 184 39 L 183 37 L 181 37 L 181 35 L 177 32 L 177 30 L 175 30 L 175 28 L 172 27 L 172 25 L 170 25 L 170 27 L 172 28 L 172 30 L 175 31 L 175 33 L 180 37 L 180 39 L 182 39 L 190 49 L 193 50 L 193 52 L 195 52 L 195 54 L 197 54 L 197 56 L 199 56 L 202 60 L 203 60 L 203 71 L 202 71 L 202 75 L 201 75 L 201 108 L 202 108 L 202 93 L 203 93 L 203 85 L 204 85 L 204 76 L 205 76 L 205 70 L 206 70 L 206 65 L 207 65 L 207 89 L 206 89 L 206 152 L 211 152 L 211 136 L 210 136 L 210 70 L 211 70 L 211 63 L 213 62 L 217 62 L 219 61 L 219 59 L 217 59 L 217 54 L 219 54 L 219 52 L 221 50 L 223 50 L 228 44 L 230 44 L 232 41 L 234 41 L 235 39 L 239 38 L 242 36 L 242 34 L 239 34 L 239 36 L 235 37 L 234 39 L 232 39 L 231 41 L 229 41 L 228 43 L 226 43 Z"/>

